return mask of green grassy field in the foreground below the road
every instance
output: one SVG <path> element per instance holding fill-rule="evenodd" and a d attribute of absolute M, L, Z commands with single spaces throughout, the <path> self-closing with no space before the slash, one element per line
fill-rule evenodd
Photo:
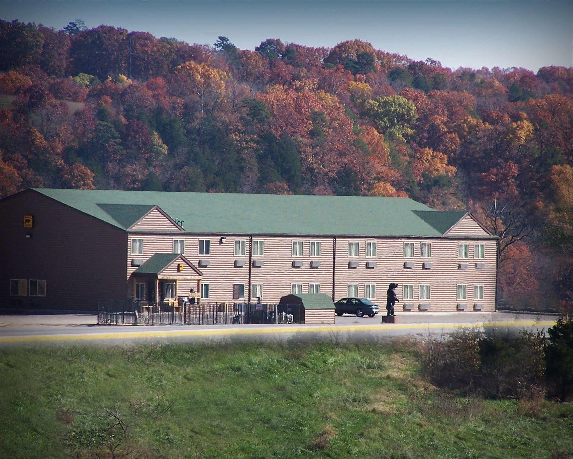
<path fill-rule="evenodd" d="M 449 394 L 406 344 L 3 348 L 0 412 L 6 458 L 573 452 L 572 404 Z"/>

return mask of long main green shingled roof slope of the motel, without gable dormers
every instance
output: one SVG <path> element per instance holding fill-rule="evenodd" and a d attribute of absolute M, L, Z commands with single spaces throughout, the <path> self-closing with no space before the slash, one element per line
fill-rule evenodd
<path fill-rule="evenodd" d="M 441 236 L 462 215 L 395 197 L 34 190 L 122 229 L 153 205 L 187 232 L 214 234 Z"/>

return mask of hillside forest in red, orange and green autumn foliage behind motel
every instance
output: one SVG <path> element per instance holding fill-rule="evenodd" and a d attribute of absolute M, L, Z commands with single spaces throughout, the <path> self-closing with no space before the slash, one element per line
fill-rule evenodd
<path fill-rule="evenodd" d="M 0 197 L 407 196 L 468 208 L 502 237 L 508 301 L 571 306 L 572 166 L 573 68 L 453 71 L 360 40 L 252 51 L 0 21 Z"/>

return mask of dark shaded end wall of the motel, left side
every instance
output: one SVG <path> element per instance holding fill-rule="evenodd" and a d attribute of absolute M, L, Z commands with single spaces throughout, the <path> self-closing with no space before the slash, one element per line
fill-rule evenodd
<path fill-rule="evenodd" d="M 0 221 L 0 306 L 97 310 L 124 298 L 125 231 L 34 190 L 1 201 Z M 11 296 L 14 278 L 45 279 L 46 296 Z"/>

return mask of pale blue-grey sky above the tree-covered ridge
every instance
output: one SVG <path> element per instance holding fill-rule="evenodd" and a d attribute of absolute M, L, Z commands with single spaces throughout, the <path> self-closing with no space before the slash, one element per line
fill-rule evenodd
<path fill-rule="evenodd" d="M 0 18 L 62 29 L 120 26 L 189 43 L 229 37 L 254 49 L 266 38 L 332 47 L 360 38 L 374 48 L 431 57 L 445 67 L 573 67 L 573 1 L 90 1 L 0 0 Z"/>

